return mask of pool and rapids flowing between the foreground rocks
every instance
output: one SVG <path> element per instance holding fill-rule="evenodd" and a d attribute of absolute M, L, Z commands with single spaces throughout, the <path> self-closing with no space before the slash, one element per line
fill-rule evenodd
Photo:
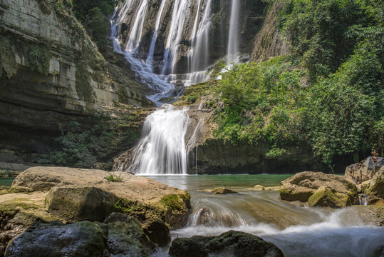
<path fill-rule="evenodd" d="M 373 257 L 384 245 L 384 228 L 361 221 L 354 207 L 338 210 L 307 208 L 279 200 L 278 191 L 250 191 L 256 184 L 278 186 L 291 175 L 150 176 L 187 190 L 192 212 L 185 228 L 172 238 L 217 236 L 244 231 L 275 243 L 288 257 Z M 214 195 L 201 189 L 227 186 L 239 193 Z M 161 248 L 154 256 L 167 256 Z"/>

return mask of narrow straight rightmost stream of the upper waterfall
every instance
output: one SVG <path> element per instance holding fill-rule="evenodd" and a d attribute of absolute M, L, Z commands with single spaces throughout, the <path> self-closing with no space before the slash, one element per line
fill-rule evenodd
<path fill-rule="evenodd" d="M 236 62 L 239 52 L 239 0 L 232 0 L 231 20 L 229 21 L 227 65 Z"/>

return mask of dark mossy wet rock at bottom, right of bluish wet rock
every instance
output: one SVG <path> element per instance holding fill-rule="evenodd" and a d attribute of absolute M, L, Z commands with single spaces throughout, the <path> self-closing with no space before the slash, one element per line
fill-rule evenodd
<path fill-rule="evenodd" d="M 145 257 L 155 250 L 155 244 L 142 231 L 137 219 L 112 213 L 108 217 L 107 248 L 111 257 Z"/>

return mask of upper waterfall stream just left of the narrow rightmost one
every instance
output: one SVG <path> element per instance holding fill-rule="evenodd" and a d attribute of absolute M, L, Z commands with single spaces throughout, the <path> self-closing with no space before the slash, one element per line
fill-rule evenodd
<path fill-rule="evenodd" d="M 203 82 L 207 79 L 207 68 L 209 59 L 209 29 L 211 28 L 211 4 L 212 0 L 207 0 L 204 6 L 204 14 L 197 30 L 197 20 L 199 18 L 201 0 L 197 3 L 197 13 L 192 29 L 192 47 L 188 53 L 188 71 L 186 86 Z M 197 31 L 196 31 L 197 30 Z"/>

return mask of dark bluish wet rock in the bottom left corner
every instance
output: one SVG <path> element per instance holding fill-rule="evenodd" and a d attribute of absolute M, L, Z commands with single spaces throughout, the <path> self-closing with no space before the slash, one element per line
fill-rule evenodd
<path fill-rule="evenodd" d="M 103 256 L 104 233 L 90 221 L 68 225 L 38 224 L 11 241 L 6 257 Z"/>

